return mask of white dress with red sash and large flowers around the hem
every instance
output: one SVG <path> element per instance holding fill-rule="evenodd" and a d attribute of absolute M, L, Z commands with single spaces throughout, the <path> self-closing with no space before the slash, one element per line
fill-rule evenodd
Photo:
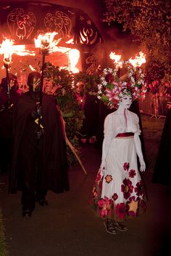
<path fill-rule="evenodd" d="M 146 209 L 146 195 L 138 171 L 134 136 L 140 135 L 138 116 L 127 110 L 125 118 L 118 111 L 104 122 L 104 172 L 99 169 L 93 187 L 93 207 L 101 217 L 117 221 L 135 217 Z M 133 133 L 128 136 L 128 132 Z M 122 137 L 116 137 L 122 133 Z M 105 148 L 106 147 L 106 148 Z"/>

